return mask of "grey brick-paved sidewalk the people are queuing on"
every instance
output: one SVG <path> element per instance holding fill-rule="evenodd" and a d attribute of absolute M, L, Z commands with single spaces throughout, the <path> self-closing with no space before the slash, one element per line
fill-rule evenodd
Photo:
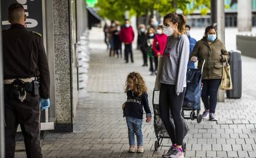
<path fill-rule="evenodd" d="M 91 32 L 92 53 L 87 95 L 80 99 L 74 122 L 74 133 L 45 133 L 42 140 L 43 157 L 161 157 L 168 148 L 154 151 L 156 141 L 153 122 L 143 125 L 143 154 L 130 154 L 126 121 L 121 105 L 126 101 L 124 83 L 127 73 L 140 72 L 148 86 L 151 111 L 155 77 L 148 67 L 142 67 L 142 56 L 135 51 L 135 63 L 108 57 L 98 30 Z M 93 36 L 92 36 L 93 35 Z M 256 157 L 256 59 L 242 57 L 242 99 L 226 99 L 218 103 L 218 122 L 187 120 L 190 131 L 187 157 Z M 144 116 L 145 117 L 145 116 Z M 168 144 L 168 139 L 164 144 Z M 25 152 L 17 152 L 25 157 Z"/>

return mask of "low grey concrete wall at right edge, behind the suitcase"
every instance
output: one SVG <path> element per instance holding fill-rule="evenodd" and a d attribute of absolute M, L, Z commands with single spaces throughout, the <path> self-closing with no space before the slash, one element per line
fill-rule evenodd
<path fill-rule="evenodd" d="M 242 56 L 256 58 L 256 36 L 236 36 L 236 49 L 242 52 Z"/>

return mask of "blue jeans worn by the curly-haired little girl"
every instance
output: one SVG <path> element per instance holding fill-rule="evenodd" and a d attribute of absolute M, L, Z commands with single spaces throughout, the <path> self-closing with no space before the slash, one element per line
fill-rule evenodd
<path fill-rule="evenodd" d="M 126 117 L 130 146 L 135 146 L 134 134 L 137 137 L 137 145 L 143 146 L 142 119 Z"/>

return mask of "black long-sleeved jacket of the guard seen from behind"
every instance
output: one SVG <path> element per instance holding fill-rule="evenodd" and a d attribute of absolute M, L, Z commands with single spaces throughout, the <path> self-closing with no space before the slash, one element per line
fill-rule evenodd
<path fill-rule="evenodd" d="M 40 34 L 14 24 L 2 31 L 4 80 L 35 77 L 40 72 L 40 97 L 49 98 L 49 66 Z"/>

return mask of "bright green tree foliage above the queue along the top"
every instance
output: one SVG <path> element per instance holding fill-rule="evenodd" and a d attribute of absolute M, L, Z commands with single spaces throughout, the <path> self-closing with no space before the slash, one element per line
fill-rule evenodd
<path fill-rule="evenodd" d="M 188 7 L 188 5 L 190 7 Z M 156 10 L 161 15 L 168 12 L 182 10 L 183 14 L 191 14 L 195 9 L 200 9 L 201 14 L 207 14 L 210 9 L 209 0 L 98 0 L 95 7 L 101 17 L 107 19 L 124 20 L 124 13 L 129 10 L 129 15 L 149 15 Z"/>

